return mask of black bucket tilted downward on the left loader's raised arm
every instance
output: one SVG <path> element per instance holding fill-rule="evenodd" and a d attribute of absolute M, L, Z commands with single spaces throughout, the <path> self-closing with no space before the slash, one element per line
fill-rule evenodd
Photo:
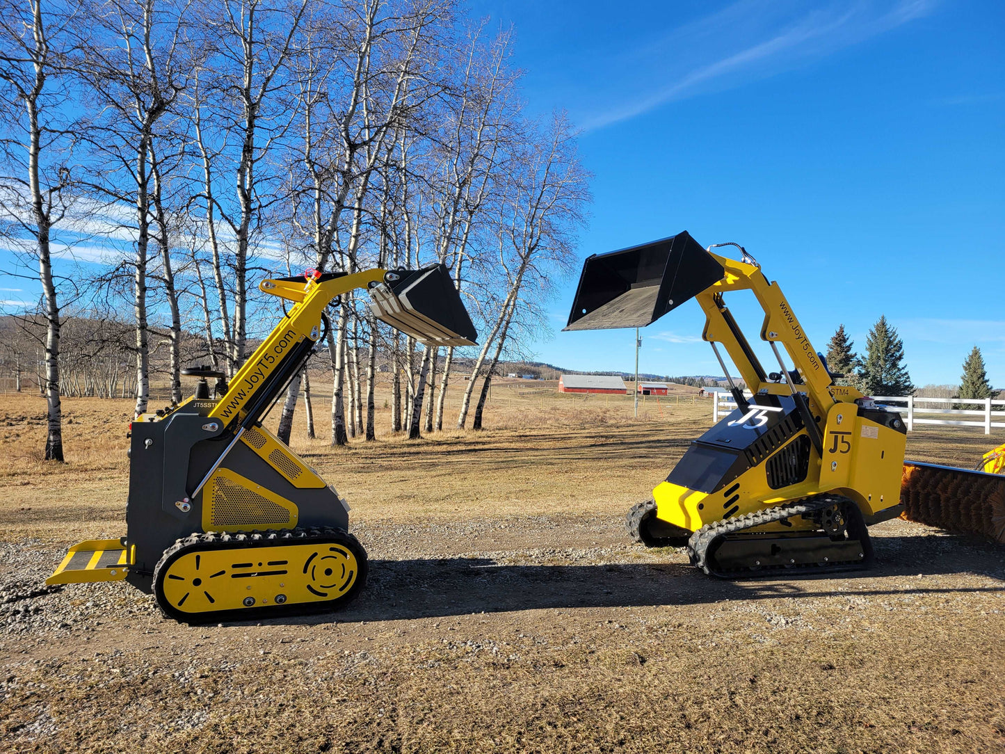
<path fill-rule="evenodd" d="M 392 269 L 370 289 L 374 316 L 432 346 L 473 346 L 478 333 L 445 264 Z"/>

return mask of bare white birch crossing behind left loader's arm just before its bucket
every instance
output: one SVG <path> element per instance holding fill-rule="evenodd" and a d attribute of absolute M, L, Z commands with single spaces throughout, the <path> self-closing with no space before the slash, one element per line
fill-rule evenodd
<path fill-rule="evenodd" d="M 300 226 L 314 240 L 319 269 L 333 261 L 349 272 L 359 268 L 373 174 L 388 154 L 389 141 L 401 133 L 431 89 L 438 90 L 429 73 L 439 59 L 436 47 L 452 5 L 452 0 L 410 4 L 356 0 L 337 13 L 311 16 L 298 76 L 301 160 L 310 186 Z M 326 26 L 339 33 L 323 33 Z M 379 261 L 380 253 L 375 257 Z M 354 302 L 354 297 L 344 298 L 330 348 L 334 444 L 343 444 L 357 429 L 363 430 L 359 319 L 350 311 Z M 368 329 L 371 350 L 376 348 L 377 333 L 376 327 Z"/>

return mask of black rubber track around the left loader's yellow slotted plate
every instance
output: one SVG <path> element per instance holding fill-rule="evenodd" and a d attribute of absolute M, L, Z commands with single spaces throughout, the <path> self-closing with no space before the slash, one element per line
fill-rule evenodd
<path fill-rule="evenodd" d="M 274 543 L 275 545 L 306 545 L 312 540 L 330 541 L 332 539 L 348 538 L 356 545 L 357 561 L 360 566 L 356 576 L 356 582 L 350 588 L 349 594 L 343 595 L 336 600 L 326 600 L 324 602 L 297 602 L 285 605 L 268 605 L 267 607 L 250 607 L 236 610 L 216 610 L 214 612 L 183 613 L 175 610 L 170 605 L 157 597 L 158 584 L 161 568 L 183 550 L 207 550 L 214 547 L 221 549 L 239 549 L 267 546 L 263 543 Z M 248 532 L 238 534 L 206 532 L 201 534 L 190 534 L 188 537 L 175 540 L 175 544 L 164 551 L 161 559 L 154 566 L 153 587 L 157 597 L 157 604 L 161 612 L 167 618 L 188 623 L 217 622 L 221 620 L 257 620 L 261 618 L 278 617 L 282 615 L 298 615 L 312 612 L 327 612 L 333 609 L 341 609 L 352 602 L 366 585 L 367 580 L 367 551 L 356 537 L 344 529 L 335 527 L 311 527 L 295 529 L 268 529 L 264 532 Z M 337 607 L 332 606 L 332 602 L 337 603 Z"/>

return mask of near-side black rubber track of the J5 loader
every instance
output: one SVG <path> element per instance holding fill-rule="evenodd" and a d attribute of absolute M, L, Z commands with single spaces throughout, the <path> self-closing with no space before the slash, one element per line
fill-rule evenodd
<path fill-rule="evenodd" d="M 723 579 L 737 578 L 741 576 L 770 576 L 778 571 L 793 573 L 794 575 L 803 575 L 863 568 L 872 560 L 872 548 L 868 542 L 869 535 L 864 522 L 859 522 L 862 534 L 862 537 L 859 538 L 859 540 L 864 539 L 864 541 L 862 541 L 863 552 L 865 553 L 865 558 L 863 560 L 835 561 L 824 566 L 814 564 L 756 566 L 744 568 L 739 571 L 720 571 L 714 567 L 714 564 L 709 562 L 709 548 L 712 547 L 716 540 L 721 537 L 725 537 L 729 534 L 739 534 L 747 529 L 753 529 L 765 524 L 773 524 L 778 521 L 790 519 L 793 516 L 813 514 L 835 504 L 846 504 L 847 506 L 853 508 L 855 512 L 858 511 L 858 507 L 855 506 L 854 502 L 848 500 L 847 498 L 837 495 L 817 495 L 795 503 L 785 503 L 775 508 L 766 508 L 763 511 L 755 511 L 754 513 L 737 516 L 735 519 L 725 519 L 723 521 L 715 521 L 711 524 L 706 524 L 703 527 L 694 532 L 691 535 L 690 540 L 687 542 L 687 554 L 690 557 L 691 565 L 700 568 L 710 576 L 716 576 L 717 578 Z M 854 515 L 854 513 L 852 513 L 852 515 Z M 849 523 L 849 536 L 851 535 L 851 528 L 852 527 Z"/>

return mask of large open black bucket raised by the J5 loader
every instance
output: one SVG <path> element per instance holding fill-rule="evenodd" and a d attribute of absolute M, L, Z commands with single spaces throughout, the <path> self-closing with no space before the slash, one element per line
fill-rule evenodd
<path fill-rule="evenodd" d="M 583 263 L 566 330 L 642 328 L 721 280 L 725 270 L 687 231 L 594 254 Z"/>

